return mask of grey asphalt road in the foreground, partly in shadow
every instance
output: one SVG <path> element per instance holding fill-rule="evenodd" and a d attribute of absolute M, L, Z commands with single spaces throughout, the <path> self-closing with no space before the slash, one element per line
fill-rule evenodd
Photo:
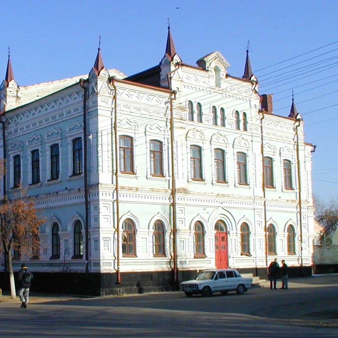
<path fill-rule="evenodd" d="M 34 299 L 27 309 L 19 301 L 0 303 L 1 338 L 338 336 L 338 321 L 330 328 L 314 324 L 320 320 L 314 313 L 338 310 L 338 276 L 292 280 L 288 290 L 255 288 L 209 298 L 173 292 Z"/>

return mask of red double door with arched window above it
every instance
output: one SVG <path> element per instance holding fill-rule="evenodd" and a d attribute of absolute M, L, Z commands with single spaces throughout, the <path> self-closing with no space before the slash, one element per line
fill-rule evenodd
<path fill-rule="evenodd" d="M 226 225 L 218 220 L 215 224 L 215 265 L 217 269 L 228 267 L 228 236 Z"/>

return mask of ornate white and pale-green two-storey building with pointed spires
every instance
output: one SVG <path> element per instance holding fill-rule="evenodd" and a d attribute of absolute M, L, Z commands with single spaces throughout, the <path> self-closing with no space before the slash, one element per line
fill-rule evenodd
<path fill-rule="evenodd" d="M 22 184 L 48 219 L 36 289 L 165 290 L 215 266 L 265 276 L 276 257 L 311 273 L 313 146 L 294 103 L 273 114 L 248 53 L 241 78 L 217 51 L 197 65 L 170 29 L 160 64 L 129 77 L 98 50 L 89 76 L 20 87 L 8 58 L 5 193 Z"/>

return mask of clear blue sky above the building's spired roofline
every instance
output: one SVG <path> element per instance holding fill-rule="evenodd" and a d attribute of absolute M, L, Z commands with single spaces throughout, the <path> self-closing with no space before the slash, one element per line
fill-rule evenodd
<path fill-rule="evenodd" d="M 260 93 L 276 93 L 276 114 L 288 115 L 294 89 L 306 141 L 317 145 L 314 194 L 321 199 L 338 196 L 336 1 L 0 2 L 0 67 L 4 77 L 10 45 L 14 76 L 21 86 L 88 73 L 99 35 L 107 68 L 131 75 L 155 66 L 164 54 L 167 17 L 176 50 L 188 64 L 219 50 L 230 63 L 229 73 L 242 76 L 250 40 L 251 65 L 260 81 Z M 300 67 L 304 68 L 296 70 Z"/>

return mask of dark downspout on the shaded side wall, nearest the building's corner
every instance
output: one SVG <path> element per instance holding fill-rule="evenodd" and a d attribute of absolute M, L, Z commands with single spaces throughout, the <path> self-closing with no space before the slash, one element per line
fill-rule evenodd
<path fill-rule="evenodd" d="M 86 85 L 85 85 L 86 84 Z M 85 247 L 86 247 L 86 277 L 88 277 L 89 262 L 89 200 L 88 200 L 88 165 L 87 165 L 87 90 L 88 81 L 80 79 L 80 86 L 83 88 L 83 145 L 84 145 L 84 180 L 85 180 Z"/>

